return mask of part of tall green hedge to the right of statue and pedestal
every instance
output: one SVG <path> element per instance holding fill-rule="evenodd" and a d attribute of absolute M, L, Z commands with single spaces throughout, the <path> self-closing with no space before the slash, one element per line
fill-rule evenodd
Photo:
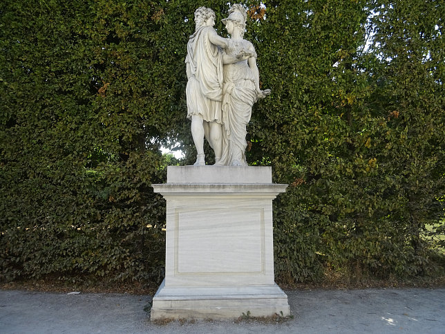
<path fill-rule="evenodd" d="M 327 263 L 425 274 L 422 234 L 444 216 L 444 7 L 265 5 L 248 30 L 272 97 L 254 110 L 248 159 L 291 184 L 274 210 L 277 274 L 319 279 Z"/>

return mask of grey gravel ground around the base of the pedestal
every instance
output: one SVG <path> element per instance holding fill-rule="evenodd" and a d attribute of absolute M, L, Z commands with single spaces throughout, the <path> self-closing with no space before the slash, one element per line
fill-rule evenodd
<path fill-rule="evenodd" d="M 445 333 L 445 288 L 285 291 L 283 321 L 152 323 L 151 296 L 0 290 L 0 333 Z"/>

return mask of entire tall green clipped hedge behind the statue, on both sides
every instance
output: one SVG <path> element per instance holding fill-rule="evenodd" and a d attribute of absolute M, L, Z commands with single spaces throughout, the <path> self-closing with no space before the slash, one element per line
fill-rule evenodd
<path fill-rule="evenodd" d="M 186 44 L 198 6 L 225 34 L 227 1 L 36 2 L 0 5 L 0 275 L 157 283 L 150 185 L 176 163 L 160 153 L 171 139 L 193 160 Z M 247 160 L 291 185 L 274 203 L 276 274 L 428 273 L 444 228 L 442 2 L 263 3 L 245 37 L 272 95 Z"/>

